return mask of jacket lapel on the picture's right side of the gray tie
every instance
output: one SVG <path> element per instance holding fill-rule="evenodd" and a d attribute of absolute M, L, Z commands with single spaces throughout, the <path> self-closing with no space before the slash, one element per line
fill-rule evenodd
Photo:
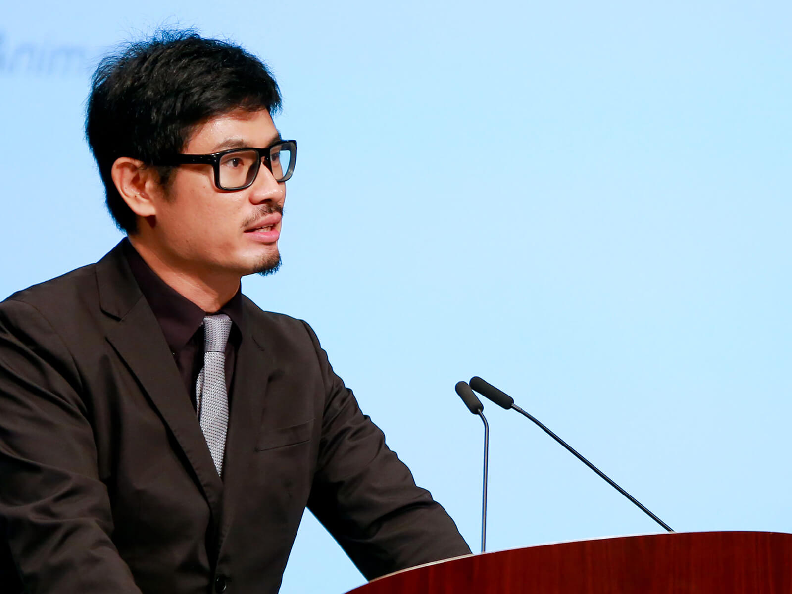
<path fill-rule="evenodd" d="M 255 307 L 245 299 L 245 309 Z M 242 342 L 234 369 L 231 386 L 230 420 L 226 442 L 226 458 L 223 462 L 223 524 L 219 546 L 228 534 L 234 520 L 237 500 L 246 488 L 246 477 L 251 456 L 261 430 L 261 416 L 265 409 L 269 379 L 276 373 L 272 359 L 274 349 L 268 348 L 261 329 L 250 328 L 249 314 L 242 328 Z"/>

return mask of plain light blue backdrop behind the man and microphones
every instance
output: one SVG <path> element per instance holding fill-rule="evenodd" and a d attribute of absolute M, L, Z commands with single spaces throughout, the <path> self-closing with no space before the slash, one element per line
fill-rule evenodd
<path fill-rule="evenodd" d="M 0 21 L 0 293 L 120 238 L 97 58 L 194 25 L 268 61 L 299 140 L 284 268 L 364 411 L 478 547 L 482 375 L 679 531 L 792 531 L 788 2 L 19 2 Z M 63 48 L 70 48 L 66 55 Z M 489 548 L 659 531 L 521 419 Z M 261 535 L 266 539 L 267 535 Z M 364 582 L 307 515 L 282 592 Z"/>

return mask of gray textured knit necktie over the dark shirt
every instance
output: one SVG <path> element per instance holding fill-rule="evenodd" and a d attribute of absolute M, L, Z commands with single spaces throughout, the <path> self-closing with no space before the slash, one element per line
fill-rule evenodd
<path fill-rule="evenodd" d="M 228 431 L 226 343 L 231 318 L 226 314 L 204 318 L 204 368 L 196 382 L 196 413 L 217 474 L 223 475 L 223 453 Z"/>

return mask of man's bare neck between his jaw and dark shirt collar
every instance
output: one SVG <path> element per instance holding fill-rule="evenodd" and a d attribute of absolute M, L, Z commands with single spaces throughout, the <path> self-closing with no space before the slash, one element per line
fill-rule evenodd
<path fill-rule="evenodd" d="M 190 270 L 188 265 L 173 261 L 158 250 L 151 249 L 147 242 L 141 241 L 140 238 L 131 235 L 128 238 L 135 251 L 157 276 L 174 291 L 209 314 L 218 311 L 239 290 L 239 276 L 228 273 L 199 274 Z"/>

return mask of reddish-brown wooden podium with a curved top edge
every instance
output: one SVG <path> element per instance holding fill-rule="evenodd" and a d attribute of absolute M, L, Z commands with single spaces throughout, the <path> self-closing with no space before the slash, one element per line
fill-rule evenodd
<path fill-rule="evenodd" d="M 348 594 L 790 594 L 792 534 L 673 532 L 429 563 Z"/>

